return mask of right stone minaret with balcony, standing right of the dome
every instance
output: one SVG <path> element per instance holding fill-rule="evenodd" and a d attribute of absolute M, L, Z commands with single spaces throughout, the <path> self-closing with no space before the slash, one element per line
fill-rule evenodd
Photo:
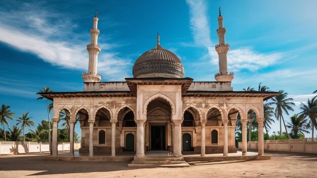
<path fill-rule="evenodd" d="M 218 17 L 219 28 L 217 29 L 217 34 L 219 37 L 219 44 L 216 45 L 216 51 L 219 56 L 219 73 L 215 74 L 215 79 L 217 81 L 232 81 L 233 72 L 228 73 L 227 69 L 227 53 L 230 49 L 229 44 L 225 43 L 224 34 L 226 29 L 223 28 L 223 17 L 221 16 L 221 11 L 219 7 L 219 17 Z"/>

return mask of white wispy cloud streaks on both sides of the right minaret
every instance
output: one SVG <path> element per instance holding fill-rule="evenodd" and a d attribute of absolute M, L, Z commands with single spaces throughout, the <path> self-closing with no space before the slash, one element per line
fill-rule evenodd
<path fill-rule="evenodd" d="M 203 46 L 208 50 L 204 58 L 211 59 L 212 64 L 218 65 L 218 54 L 211 40 L 210 27 L 206 15 L 206 2 L 187 0 L 190 15 L 190 29 L 197 46 Z M 283 53 L 258 53 L 249 47 L 241 47 L 228 52 L 228 68 L 232 71 L 248 69 L 258 70 L 279 62 L 283 59 Z"/>

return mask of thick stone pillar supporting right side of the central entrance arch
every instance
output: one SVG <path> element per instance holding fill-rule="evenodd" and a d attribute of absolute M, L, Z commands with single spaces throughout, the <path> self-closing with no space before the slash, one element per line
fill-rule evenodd
<path fill-rule="evenodd" d="M 174 137 L 173 137 L 173 154 L 176 157 L 182 157 L 182 120 L 173 120 Z"/>

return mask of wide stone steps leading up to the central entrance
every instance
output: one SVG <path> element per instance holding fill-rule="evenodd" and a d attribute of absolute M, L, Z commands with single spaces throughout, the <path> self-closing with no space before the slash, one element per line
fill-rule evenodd
<path fill-rule="evenodd" d="M 156 154 L 155 154 L 156 153 Z M 167 153 L 167 152 L 166 152 Z M 175 157 L 171 152 L 167 155 L 162 152 L 151 152 L 144 157 L 134 157 L 128 167 L 188 167 L 189 164 L 184 158 Z"/>

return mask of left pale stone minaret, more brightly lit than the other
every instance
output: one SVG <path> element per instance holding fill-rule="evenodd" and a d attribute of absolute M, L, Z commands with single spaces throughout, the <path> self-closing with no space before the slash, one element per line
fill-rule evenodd
<path fill-rule="evenodd" d="M 89 53 L 89 65 L 88 73 L 82 74 L 84 82 L 99 82 L 101 79 L 101 75 L 97 73 L 98 54 L 101 51 L 101 48 L 98 45 L 98 34 L 100 33 L 100 31 L 97 28 L 97 26 L 98 17 L 96 10 L 96 15 L 94 17 L 94 25 L 93 28 L 90 29 L 91 43 L 87 44 L 87 51 Z"/>

